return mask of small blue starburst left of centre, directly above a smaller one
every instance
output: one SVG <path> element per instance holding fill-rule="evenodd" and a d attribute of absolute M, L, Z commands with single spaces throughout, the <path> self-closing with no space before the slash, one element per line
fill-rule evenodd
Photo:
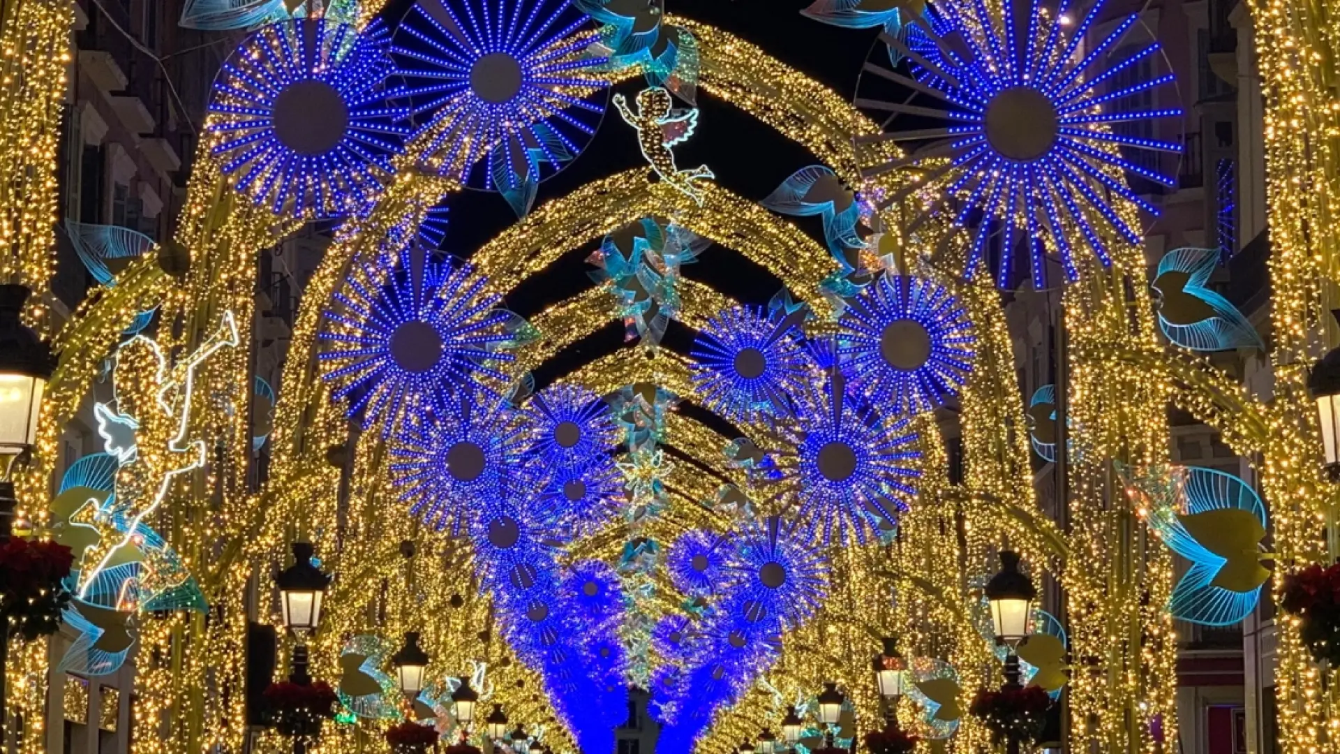
<path fill-rule="evenodd" d="M 560 382 L 540 390 L 528 407 L 533 452 L 545 466 L 575 471 L 619 444 L 610 404 L 595 390 Z"/>

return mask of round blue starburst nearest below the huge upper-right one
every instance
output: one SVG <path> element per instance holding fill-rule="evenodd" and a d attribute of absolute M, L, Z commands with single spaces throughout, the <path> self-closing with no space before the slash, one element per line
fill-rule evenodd
<path fill-rule="evenodd" d="M 892 413 L 939 404 L 972 368 L 967 313 L 931 280 L 880 275 L 848 302 L 838 325 L 838 353 L 854 386 Z"/>

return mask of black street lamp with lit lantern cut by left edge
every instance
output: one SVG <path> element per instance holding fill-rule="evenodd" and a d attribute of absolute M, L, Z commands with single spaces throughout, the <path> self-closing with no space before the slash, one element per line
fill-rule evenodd
<path fill-rule="evenodd" d="M 19 499 L 9 474 L 15 462 L 27 457 L 38 439 L 42 393 L 56 369 L 51 346 L 42 341 L 19 315 L 32 294 L 24 286 L 0 284 L 0 545 L 9 541 Z M 9 645 L 9 623 L 0 621 L 0 651 Z M 5 715 L 5 678 L 0 674 L 0 750 L 8 747 L 9 719 Z"/>

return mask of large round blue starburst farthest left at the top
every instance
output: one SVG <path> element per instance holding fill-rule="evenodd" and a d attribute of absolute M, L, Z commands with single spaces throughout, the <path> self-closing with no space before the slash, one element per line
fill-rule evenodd
<path fill-rule="evenodd" d="M 276 215 L 332 217 L 391 173 L 407 115 L 387 107 L 387 32 L 296 19 L 247 38 L 214 80 L 208 129 L 233 188 Z"/>

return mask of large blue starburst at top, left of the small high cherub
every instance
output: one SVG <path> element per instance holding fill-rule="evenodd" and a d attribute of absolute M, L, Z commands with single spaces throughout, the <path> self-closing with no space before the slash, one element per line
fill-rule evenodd
<path fill-rule="evenodd" d="M 591 141 L 608 95 L 571 0 L 419 0 L 394 54 L 423 125 L 427 166 L 503 192 L 519 215 L 535 185 Z"/>

